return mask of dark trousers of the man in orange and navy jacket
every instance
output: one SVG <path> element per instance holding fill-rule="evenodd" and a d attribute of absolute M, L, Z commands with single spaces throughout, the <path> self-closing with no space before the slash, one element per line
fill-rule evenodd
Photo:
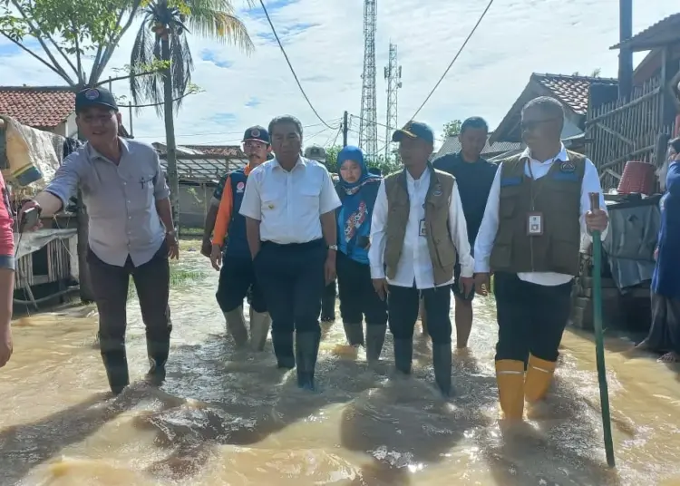
<path fill-rule="evenodd" d="M 255 267 L 250 256 L 225 255 L 222 259 L 222 268 L 219 270 L 218 291 L 215 296 L 218 299 L 219 308 L 222 312 L 231 312 L 243 306 L 243 299 L 250 293 L 248 303 L 255 312 L 267 312 L 265 296 L 261 287 L 257 284 Z"/>

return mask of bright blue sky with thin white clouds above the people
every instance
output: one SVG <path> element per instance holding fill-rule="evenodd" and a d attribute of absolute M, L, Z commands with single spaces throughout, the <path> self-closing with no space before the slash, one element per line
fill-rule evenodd
<path fill-rule="evenodd" d="M 309 108 L 287 67 L 261 7 L 233 0 L 255 52 L 189 35 L 201 88 L 188 96 L 177 115 L 179 144 L 238 144 L 252 125 L 267 126 L 281 114 L 295 115 L 305 127 L 306 145 L 339 143 L 345 110 L 361 112 L 364 29 L 362 0 L 267 0 L 267 10 L 310 101 L 328 129 Z M 398 120 L 409 121 L 451 63 L 487 5 L 486 0 L 378 0 L 376 51 L 377 122 L 385 124 L 389 44 L 397 45 L 403 87 Z M 642 6 L 644 5 L 644 8 Z M 634 2 L 633 32 L 675 14 L 676 0 Z M 130 63 L 133 24 L 109 63 L 105 77 Z M 496 0 L 416 120 L 432 126 L 438 139 L 447 121 L 478 115 L 493 129 L 529 82 L 531 73 L 592 73 L 617 76 L 617 0 Z M 30 43 L 34 45 L 34 43 Z M 40 53 L 39 49 L 36 51 Z M 639 60 L 639 56 L 636 58 Z M 63 80 L 29 54 L 0 39 L 5 86 L 62 85 Z M 112 84 L 126 96 L 126 81 Z M 350 143 L 358 142 L 358 118 L 351 118 Z M 128 111 L 123 121 L 130 126 Z M 134 137 L 164 141 L 164 125 L 152 108 L 135 113 Z M 386 143 L 378 127 L 378 148 Z"/>

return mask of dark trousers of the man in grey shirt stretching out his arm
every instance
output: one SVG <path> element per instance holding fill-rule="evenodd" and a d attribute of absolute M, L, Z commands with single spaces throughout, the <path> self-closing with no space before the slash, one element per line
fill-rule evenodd
<path fill-rule="evenodd" d="M 147 263 L 135 267 L 128 257 L 123 267 L 104 263 L 88 250 L 92 292 L 99 311 L 99 342 L 104 364 L 125 363 L 126 306 L 130 277 L 140 300 L 149 357 L 158 364 L 168 359 L 170 346 L 170 264 L 164 242 Z M 127 374 L 127 371 L 125 371 Z M 111 377 L 110 377 L 111 379 Z"/>

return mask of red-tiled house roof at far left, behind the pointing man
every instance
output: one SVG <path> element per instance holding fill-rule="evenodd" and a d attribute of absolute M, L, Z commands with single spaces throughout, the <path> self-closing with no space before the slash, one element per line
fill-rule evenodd
<path fill-rule="evenodd" d="M 34 128 L 53 128 L 73 113 L 70 86 L 0 86 L 0 113 Z"/>

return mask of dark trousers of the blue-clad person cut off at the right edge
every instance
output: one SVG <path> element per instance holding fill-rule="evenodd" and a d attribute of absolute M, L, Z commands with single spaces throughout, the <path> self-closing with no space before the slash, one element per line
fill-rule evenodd
<path fill-rule="evenodd" d="M 680 354 L 680 299 L 652 292 L 652 326 L 646 342 L 658 353 Z"/>

